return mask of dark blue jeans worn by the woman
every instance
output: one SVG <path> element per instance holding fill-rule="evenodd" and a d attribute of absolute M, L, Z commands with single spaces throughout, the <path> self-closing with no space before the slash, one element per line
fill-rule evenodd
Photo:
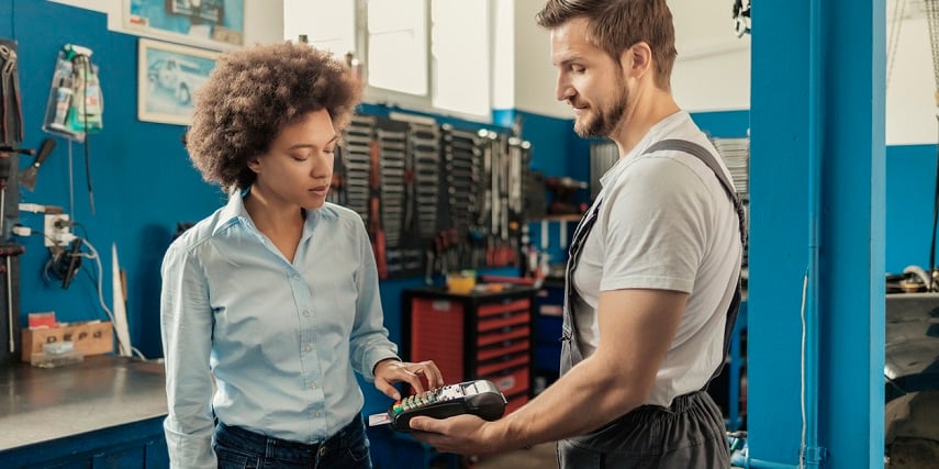
<path fill-rule="evenodd" d="M 219 469 L 371 469 L 361 415 L 325 440 L 304 444 L 219 422 L 212 447 Z"/>

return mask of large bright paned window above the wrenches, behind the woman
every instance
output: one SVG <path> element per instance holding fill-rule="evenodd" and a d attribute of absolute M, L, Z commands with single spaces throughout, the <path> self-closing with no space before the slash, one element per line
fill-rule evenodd
<path fill-rule="evenodd" d="M 284 0 L 284 37 L 354 53 L 367 101 L 489 121 L 491 1 Z"/>

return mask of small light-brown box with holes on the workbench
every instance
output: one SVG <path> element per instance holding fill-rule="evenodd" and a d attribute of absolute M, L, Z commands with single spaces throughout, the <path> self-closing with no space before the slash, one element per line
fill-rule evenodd
<path fill-rule="evenodd" d="M 114 336 L 110 321 L 69 323 L 66 326 L 49 328 L 24 328 L 22 334 L 23 361 L 30 356 L 43 351 L 43 344 L 71 340 L 81 355 L 101 355 L 114 351 Z"/>

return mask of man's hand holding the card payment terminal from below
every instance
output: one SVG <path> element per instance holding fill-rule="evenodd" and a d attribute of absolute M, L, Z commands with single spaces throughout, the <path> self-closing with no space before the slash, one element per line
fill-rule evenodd
<path fill-rule="evenodd" d="M 510 449 L 504 445 L 508 438 L 495 436 L 494 423 L 472 414 L 443 420 L 416 416 L 411 418 L 409 425 L 414 438 L 440 453 L 479 456 Z"/>

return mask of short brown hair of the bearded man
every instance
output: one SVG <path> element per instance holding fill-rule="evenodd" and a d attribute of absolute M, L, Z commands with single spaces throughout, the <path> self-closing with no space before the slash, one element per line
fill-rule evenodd
<path fill-rule="evenodd" d="M 670 90 L 675 51 L 672 12 L 666 0 L 548 0 L 538 25 L 555 29 L 575 18 L 590 22 L 589 40 L 616 63 L 624 51 L 646 42 L 656 65 L 656 85 Z"/>

